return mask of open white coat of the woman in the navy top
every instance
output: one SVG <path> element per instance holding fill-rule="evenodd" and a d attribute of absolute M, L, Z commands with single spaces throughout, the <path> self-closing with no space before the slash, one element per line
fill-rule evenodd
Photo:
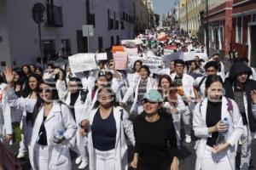
<path fill-rule="evenodd" d="M 96 115 L 96 111 L 99 109 L 96 108 L 95 110 L 90 112 L 90 127 L 88 133 L 88 151 L 89 151 L 89 168 L 90 170 L 96 169 L 96 150 L 93 147 L 92 141 L 92 133 L 91 133 L 91 126 Z M 123 116 L 121 118 L 121 111 L 123 111 Z M 115 140 L 115 159 L 114 159 L 114 169 L 117 170 L 127 170 L 128 169 L 128 147 L 126 138 L 128 138 L 131 143 L 135 144 L 135 138 L 133 133 L 133 126 L 132 123 L 128 120 L 128 113 L 121 107 L 114 107 L 113 108 L 113 117 L 116 123 L 116 140 Z M 126 137 L 125 137 L 126 134 Z"/>

